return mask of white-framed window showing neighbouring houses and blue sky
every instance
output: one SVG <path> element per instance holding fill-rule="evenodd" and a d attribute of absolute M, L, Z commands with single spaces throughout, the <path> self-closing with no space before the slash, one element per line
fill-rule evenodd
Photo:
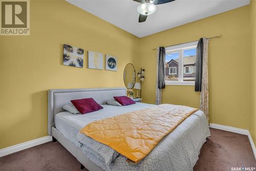
<path fill-rule="evenodd" d="M 165 83 L 195 85 L 198 41 L 165 48 Z"/>

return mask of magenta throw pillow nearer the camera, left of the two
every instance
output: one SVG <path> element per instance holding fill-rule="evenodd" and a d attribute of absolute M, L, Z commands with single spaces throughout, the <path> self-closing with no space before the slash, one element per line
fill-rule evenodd
<path fill-rule="evenodd" d="M 71 100 L 72 104 L 81 114 L 86 114 L 103 109 L 93 98 Z"/>

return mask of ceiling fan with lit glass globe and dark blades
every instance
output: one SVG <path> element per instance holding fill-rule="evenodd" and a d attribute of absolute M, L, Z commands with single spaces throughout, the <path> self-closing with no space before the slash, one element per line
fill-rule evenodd
<path fill-rule="evenodd" d="M 140 13 L 139 23 L 142 23 L 142 22 L 145 22 L 147 15 L 151 15 L 154 12 L 156 12 L 157 10 L 156 5 L 169 3 L 175 0 L 133 0 L 133 1 L 141 3 L 138 6 L 137 11 Z"/>

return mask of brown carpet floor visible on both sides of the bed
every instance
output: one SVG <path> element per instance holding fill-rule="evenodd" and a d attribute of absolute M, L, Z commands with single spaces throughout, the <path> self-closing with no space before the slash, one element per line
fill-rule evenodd
<path fill-rule="evenodd" d="M 194 170 L 256 167 L 247 136 L 216 129 L 210 132 Z M 60 143 L 48 142 L 0 158 L 0 170 L 80 170 L 80 163 Z"/>

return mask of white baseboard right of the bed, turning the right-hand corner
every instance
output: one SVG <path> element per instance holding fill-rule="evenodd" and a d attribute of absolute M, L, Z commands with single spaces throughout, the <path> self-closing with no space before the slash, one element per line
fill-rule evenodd
<path fill-rule="evenodd" d="M 224 131 L 229 131 L 229 132 L 232 132 L 232 133 L 247 135 L 248 138 L 249 138 L 250 144 L 251 144 L 252 152 L 253 152 L 255 160 L 256 160 L 256 148 L 255 148 L 254 142 L 251 138 L 251 134 L 248 130 L 239 129 L 237 127 L 232 127 L 232 126 L 225 126 L 225 125 L 215 124 L 215 123 L 210 123 L 210 127 L 213 128 L 213 129 L 224 130 Z"/>

